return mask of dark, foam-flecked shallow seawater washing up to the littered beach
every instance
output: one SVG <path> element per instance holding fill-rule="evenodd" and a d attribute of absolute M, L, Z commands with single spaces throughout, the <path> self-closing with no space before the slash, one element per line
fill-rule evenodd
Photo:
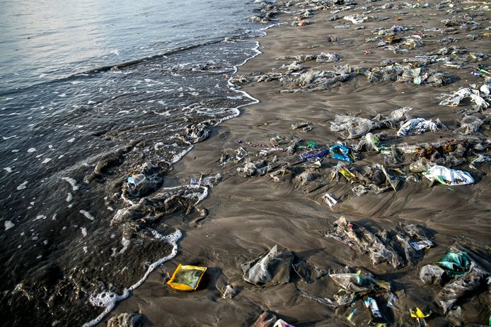
<path fill-rule="evenodd" d="M 255 4 L 243 1 L 1 8 L 0 252 L 8 268 L 0 311 L 9 326 L 33 317 L 42 326 L 83 323 L 102 311 L 90 295 L 124 293 L 171 253 L 162 241 L 173 222 L 155 212 L 179 213 L 206 196 L 207 187 L 182 186 L 145 199 L 125 194 L 125 182 L 150 167 L 151 191 L 189 184 L 166 178 L 192 148 L 185 127 L 235 117 L 254 101 L 231 90 L 227 76 L 258 54 L 252 37 L 263 26 L 250 23 Z M 141 198 L 138 214 L 111 221 Z"/>

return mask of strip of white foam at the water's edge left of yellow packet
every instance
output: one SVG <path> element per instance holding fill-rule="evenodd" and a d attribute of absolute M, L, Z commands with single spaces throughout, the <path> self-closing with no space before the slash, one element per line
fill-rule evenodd
<path fill-rule="evenodd" d="M 110 311 L 115 307 L 116 302 L 119 302 L 123 299 L 127 299 L 127 297 L 129 297 L 129 295 L 131 294 L 131 291 L 136 290 L 141 284 L 143 284 L 152 271 L 154 271 L 158 266 L 161 266 L 162 263 L 171 260 L 178 254 L 178 240 L 183 236 L 180 230 L 175 230 L 175 232 L 166 236 L 158 234 L 158 232 L 156 232 L 155 230 L 151 230 L 151 234 L 152 236 L 154 236 L 154 238 L 160 239 L 162 241 L 166 241 L 169 244 L 171 244 L 172 245 L 171 254 L 169 254 L 168 256 L 164 256 L 163 258 L 160 258 L 154 263 L 151 263 L 151 265 L 146 270 L 146 273 L 143 275 L 143 277 L 137 283 L 135 283 L 128 289 L 125 289 L 122 295 L 117 295 L 114 292 L 108 292 L 108 291 L 101 292 L 100 294 L 97 295 L 91 295 L 89 302 L 91 302 L 91 304 L 95 307 L 105 307 L 105 309 L 99 316 L 97 316 L 96 319 L 88 321 L 88 323 L 84 323 L 83 327 L 96 326 L 98 323 L 100 323 L 100 321 L 102 321 L 103 318 L 107 314 L 109 314 Z"/>

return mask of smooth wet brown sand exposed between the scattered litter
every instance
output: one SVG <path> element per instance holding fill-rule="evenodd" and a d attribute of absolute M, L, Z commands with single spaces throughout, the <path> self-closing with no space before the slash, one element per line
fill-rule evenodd
<path fill-rule="evenodd" d="M 393 2 L 396 6 L 400 3 L 402 2 Z M 373 8 L 383 4 L 374 2 L 366 5 Z M 459 7 L 475 4 L 479 3 L 468 2 Z M 360 4 L 337 15 L 360 13 L 364 5 Z M 352 25 L 349 29 L 336 29 L 335 25 L 350 23 L 346 20 L 330 21 L 330 16 L 333 16 L 329 13 L 330 10 L 316 11 L 316 16 L 308 19 L 311 25 L 283 25 L 267 30 L 267 37 L 260 39 L 263 54 L 241 66 L 238 74 L 248 75 L 258 71 L 266 73 L 293 61 L 275 60 L 277 57 L 320 52 L 340 54 L 343 60 L 334 63 L 335 65 L 350 64 L 352 67 L 371 68 L 380 66 L 384 59 L 402 62 L 405 57 L 414 57 L 415 54 L 444 47 L 437 40 L 449 35 L 427 32 L 432 35 L 424 38 L 429 45 L 412 49 L 410 54 L 393 54 L 377 48 L 374 42 L 365 42 L 367 37 L 375 36 L 371 30 L 378 27 L 391 28 L 392 25 L 411 26 L 414 28 L 413 32 L 422 27 L 442 28 L 440 20 L 465 14 L 461 12 L 449 15 L 446 13 L 447 9 L 449 8 L 437 11 L 434 8 L 405 7 L 372 11 L 368 16 L 388 19 L 363 23 L 361 25 L 364 29 L 361 30 L 355 30 L 358 25 Z M 395 18 L 400 20 L 394 21 Z M 487 24 L 486 19 L 490 19 L 489 11 L 477 18 L 481 24 L 480 30 L 458 30 L 457 27 L 451 36 L 465 37 L 470 33 L 482 35 Z M 282 20 L 290 23 L 293 15 L 285 14 Z M 337 35 L 340 44 L 328 42 L 329 35 Z M 408 35 L 407 32 L 405 35 Z M 491 50 L 489 38 L 472 42 L 463 39 L 451 45 L 466 48 L 470 52 L 487 53 Z M 371 54 L 364 54 L 366 50 Z M 331 69 L 333 63 L 306 61 L 303 65 L 306 68 Z M 358 76 L 330 90 L 311 93 L 280 93 L 284 87 L 276 81 L 244 86 L 242 90 L 258 98 L 260 103 L 243 108 L 240 117 L 215 127 L 207 141 L 195 145 L 175 165 L 173 179 L 166 181 L 168 185 L 172 185 L 186 181 L 190 176 L 199 177 L 201 173 L 221 172 L 221 182 L 199 205 L 207 208 L 209 215 L 197 226 L 192 224 L 192 220 L 199 216 L 196 211 L 182 216 L 179 228 L 183 230 L 183 239 L 178 243 L 178 256 L 152 273 L 149 280 L 134 291 L 132 297 L 117 304 L 105 321 L 121 312 L 138 311 L 145 316 L 146 326 L 250 326 L 262 311 L 270 310 L 295 326 L 351 326 L 345 319 L 351 311 L 349 307 L 331 309 L 299 295 L 299 290 L 303 290 L 319 297 L 331 297 L 339 287 L 333 285 L 328 276 L 312 284 L 306 284 L 294 276 L 290 283 L 269 287 L 250 285 L 243 280 L 241 264 L 257 258 L 277 244 L 280 248 L 294 251 L 299 258 L 323 270 L 340 270 L 345 266 L 354 271 L 363 268 L 390 281 L 393 290 L 400 297 L 399 307 L 403 311 L 387 308 L 383 297 L 377 300 L 382 314 L 391 326 L 416 326 L 415 319 L 411 319 L 408 313 L 408 309 L 414 307 L 432 310 L 432 315 L 427 318 L 429 326 L 449 326 L 449 320 L 435 302 L 441 287 L 424 285 L 419 278 L 419 270 L 424 265 L 438 261 L 449 251 L 449 246 L 458 242 L 472 251 L 473 258 L 486 271 L 490 271 L 489 164 L 485 163 L 477 171 L 471 171 L 476 180 L 473 185 L 438 184 L 429 187 L 429 181 L 422 177 L 420 182 L 404 183 L 397 192 L 391 190 L 379 195 L 362 196 L 354 195 L 351 185 L 343 179 L 340 182 L 330 182 L 329 171 L 337 164 L 337 160 L 332 158 L 323 160 L 319 170 L 325 186 L 310 193 L 296 187 L 293 177 L 283 182 L 274 182 L 267 175 L 244 178 L 236 172 L 236 167 L 242 167 L 241 165 L 219 166 L 221 151 L 227 148 L 237 149 L 239 140 L 268 144 L 273 136 L 294 135 L 321 145 L 345 141 L 339 133 L 329 129 L 335 114 L 375 117 L 376 114 L 387 115 L 394 109 L 409 106 L 412 107 L 410 114 L 413 117 L 439 118 L 447 129 L 437 133 L 405 136 L 392 143 L 439 142 L 452 138 L 453 131 L 461 120 L 461 116 L 456 113 L 457 109 L 466 106 L 441 106 L 437 97 L 441 93 L 453 93 L 469 83 L 482 83 L 483 79 L 472 76 L 472 69 L 446 67 L 444 70 L 459 76 L 460 80 L 434 88 L 393 81 L 369 83 L 366 77 Z M 291 124 L 301 121 L 311 122 L 313 129 L 308 133 L 290 129 Z M 489 138 L 489 123 L 481 127 L 481 132 L 485 138 Z M 388 133 L 395 135 L 393 130 Z M 363 167 L 371 162 L 383 164 L 383 156 L 368 155 L 352 165 Z M 457 168 L 470 171 L 468 162 Z M 326 192 L 339 198 L 340 203 L 333 208 L 327 206 L 322 199 Z M 393 230 L 399 222 L 419 224 L 434 234 L 432 241 L 435 246 L 426 250 L 422 260 L 415 265 L 406 265 L 399 269 L 386 263 L 373 266 L 368 256 L 358 254 L 334 239 L 323 237 L 323 232 L 341 215 L 374 231 Z M 165 285 L 178 263 L 209 267 L 199 290 L 176 292 Z M 237 290 L 237 295 L 232 299 L 221 298 L 227 284 Z M 466 325 L 487 323 L 490 303 L 488 290 L 480 290 L 475 295 L 466 297 L 459 302 L 463 312 L 461 321 L 465 321 Z M 369 321 L 367 309 L 357 316 L 365 323 Z"/>

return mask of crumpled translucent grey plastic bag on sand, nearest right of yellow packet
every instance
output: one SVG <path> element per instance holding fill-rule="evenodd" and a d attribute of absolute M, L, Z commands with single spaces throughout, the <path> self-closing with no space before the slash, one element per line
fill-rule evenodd
<path fill-rule="evenodd" d="M 291 251 L 278 251 L 275 245 L 266 254 L 241 266 L 243 279 L 254 285 L 288 283 L 293 260 Z"/>

